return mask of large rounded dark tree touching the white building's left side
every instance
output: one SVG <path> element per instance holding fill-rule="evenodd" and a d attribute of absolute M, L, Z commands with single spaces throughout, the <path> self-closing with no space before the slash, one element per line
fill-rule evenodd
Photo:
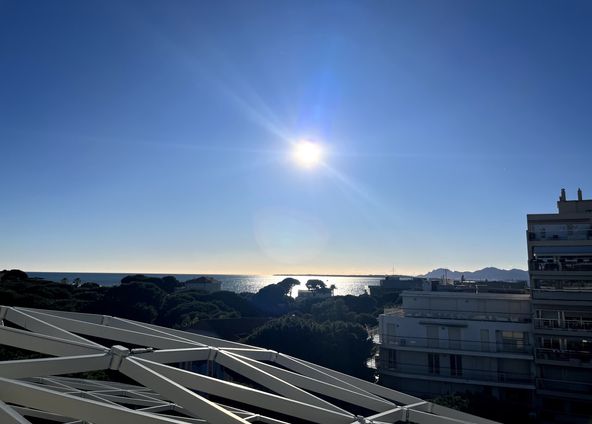
<path fill-rule="evenodd" d="M 245 343 L 274 349 L 361 378 L 369 378 L 366 360 L 373 344 L 359 324 L 343 321 L 317 323 L 296 316 L 268 322 L 244 339 Z"/>

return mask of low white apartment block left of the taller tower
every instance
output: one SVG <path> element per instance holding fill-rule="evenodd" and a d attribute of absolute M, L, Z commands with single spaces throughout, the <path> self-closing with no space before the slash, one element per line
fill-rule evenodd
<path fill-rule="evenodd" d="M 487 392 L 532 404 L 530 296 L 405 291 L 379 318 L 382 384 L 424 397 Z"/>

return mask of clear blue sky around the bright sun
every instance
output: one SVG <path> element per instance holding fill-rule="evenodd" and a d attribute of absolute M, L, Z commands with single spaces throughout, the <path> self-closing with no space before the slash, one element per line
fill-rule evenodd
<path fill-rule="evenodd" d="M 577 0 L 0 0 L 0 268 L 525 268 L 526 214 L 592 195 L 590 22 Z"/>

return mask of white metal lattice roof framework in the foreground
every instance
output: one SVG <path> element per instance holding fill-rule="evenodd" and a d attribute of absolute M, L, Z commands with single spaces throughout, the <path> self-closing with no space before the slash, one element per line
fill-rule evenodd
<path fill-rule="evenodd" d="M 45 356 L 0 362 L 1 423 L 493 423 L 272 350 L 127 319 L 0 306 L 0 324 L 0 344 Z M 137 384 L 64 376 L 100 370 Z"/>

